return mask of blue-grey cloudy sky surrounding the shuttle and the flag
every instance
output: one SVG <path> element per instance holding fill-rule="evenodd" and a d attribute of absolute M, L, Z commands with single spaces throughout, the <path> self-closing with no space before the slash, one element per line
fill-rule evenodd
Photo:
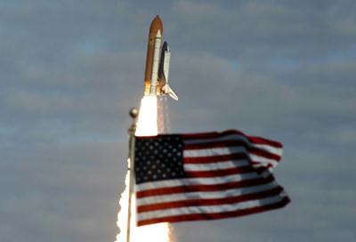
<path fill-rule="evenodd" d="M 173 225 L 175 241 L 356 241 L 356 2 L 2 0 L 1 241 L 114 241 L 150 21 L 171 131 L 284 144 L 292 203 Z"/>

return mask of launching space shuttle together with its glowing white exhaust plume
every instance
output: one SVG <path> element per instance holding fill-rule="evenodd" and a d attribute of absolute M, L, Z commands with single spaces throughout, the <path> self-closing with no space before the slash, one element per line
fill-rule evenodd
<path fill-rule="evenodd" d="M 166 96 L 169 95 L 174 100 L 178 100 L 178 96 L 168 85 L 171 52 L 166 42 L 161 46 L 162 39 L 163 24 L 159 17 L 156 16 L 150 24 L 144 91 L 137 120 L 136 136 L 152 136 L 158 133 L 165 133 L 167 125 L 169 125 L 166 116 L 167 109 L 165 109 Z M 129 165 L 133 164 L 133 162 L 130 158 L 128 159 Z M 120 233 L 117 234 L 116 242 L 126 242 L 127 238 L 129 238 L 130 242 L 172 241 L 170 238 L 170 226 L 166 222 L 136 227 L 135 197 L 134 194 L 130 194 L 129 189 L 129 184 L 132 183 L 128 172 L 125 178 L 125 190 L 121 194 L 119 201 L 121 209 L 117 214 L 117 226 L 120 229 Z M 128 212 L 129 210 L 131 210 L 131 213 Z"/>

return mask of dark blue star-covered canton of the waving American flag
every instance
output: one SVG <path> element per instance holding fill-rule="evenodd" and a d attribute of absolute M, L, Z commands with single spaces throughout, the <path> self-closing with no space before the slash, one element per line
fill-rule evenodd
<path fill-rule="evenodd" d="M 183 178 L 184 144 L 179 135 L 136 137 L 134 173 L 136 183 Z"/>

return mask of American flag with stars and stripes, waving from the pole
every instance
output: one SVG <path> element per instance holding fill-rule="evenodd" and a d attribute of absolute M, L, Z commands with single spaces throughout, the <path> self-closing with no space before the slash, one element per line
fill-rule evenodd
<path fill-rule="evenodd" d="M 286 206 L 282 145 L 236 130 L 136 137 L 137 223 L 214 220 Z"/>

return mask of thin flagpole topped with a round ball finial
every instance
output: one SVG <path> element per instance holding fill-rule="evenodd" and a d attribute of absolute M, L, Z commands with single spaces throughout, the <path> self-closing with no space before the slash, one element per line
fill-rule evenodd
<path fill-rule="evenodd" d="M 128 129 L 129 134 L 129 157 L 128 157 L 128 174 L 129 174 L 129 183 L 128 183 L 128 213 L 127 213 L 127 230 L 126 230 L 126 242 L 130 242 L 131 236 L 131 200 L 134 193 L 134 133 L 136 132 L 136 122 L 138 117 L 137 109 L 130 109 L 130 117 L 132 117 L 133 122 Z"/>

